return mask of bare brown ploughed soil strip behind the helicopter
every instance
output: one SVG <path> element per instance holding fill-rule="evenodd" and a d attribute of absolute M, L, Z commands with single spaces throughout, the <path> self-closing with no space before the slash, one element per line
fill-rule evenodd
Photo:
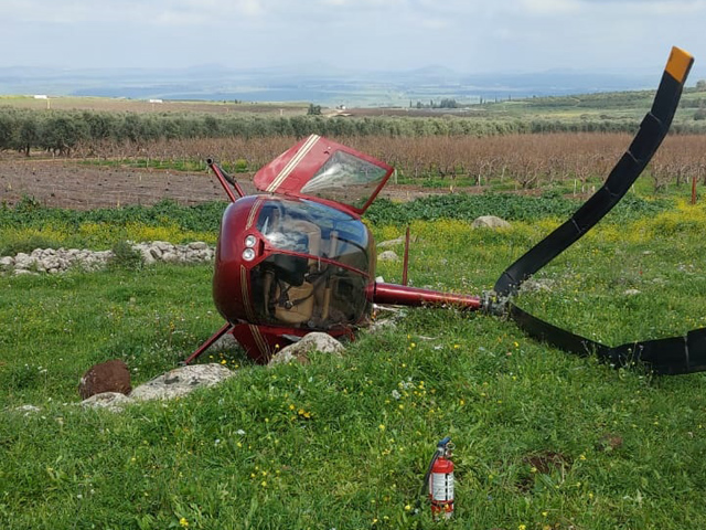
<path fill-rule="evenodd" d="M 246 193 L 254 193 L 252 174 L 238 174 Z M 418 187 L 388 184 L 381 197 L 411 200 L 446 193 Z M 13 205 L 22 197 L 52 208 L 90 210 L 126 204 L 153 204 L 171 199 L 180 204 L 225 200 L 217 179 L 210 172 L 106 168 L 72 160 L 0 160 L 0 203 Z"/>

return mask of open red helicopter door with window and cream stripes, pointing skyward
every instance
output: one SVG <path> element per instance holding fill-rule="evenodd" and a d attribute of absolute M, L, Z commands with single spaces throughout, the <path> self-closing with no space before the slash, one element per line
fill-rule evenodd
<path fill-rule="evenodd" d="M 361 215 L 394 168 L 319 135 L 311 135 L 263 167 L 258 190 L 308 199 Z"/>

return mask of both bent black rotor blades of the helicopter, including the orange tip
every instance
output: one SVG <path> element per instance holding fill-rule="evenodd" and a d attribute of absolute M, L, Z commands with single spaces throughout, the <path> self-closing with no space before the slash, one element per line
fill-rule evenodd
<path fill-rule="evenodd" d="M 693 63 L 691 54 L 678 47 L 672 49 L 652 109 L 605 184 L 567 222 L 507 267 L 495 283 L 498 295 L 509 297 L 516 294 L 525 279 L 578 241 L 622 199 L 666 136 Z M 706 328 L 688 331 L 682 337 L 609 347 L 558 328 L 512 303 L 507 304 L 506 310 L 527 335 L 579 356 L 596 354 L 614 365 L 644 362 L 662 374 L 706 370 Z"/>

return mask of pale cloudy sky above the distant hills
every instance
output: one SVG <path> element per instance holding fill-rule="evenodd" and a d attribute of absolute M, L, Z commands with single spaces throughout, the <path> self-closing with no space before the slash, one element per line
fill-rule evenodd
<path fill-rule="evenodd" d="M 0 0 L 0 67 L 706 66 L 706 0 Z"/>

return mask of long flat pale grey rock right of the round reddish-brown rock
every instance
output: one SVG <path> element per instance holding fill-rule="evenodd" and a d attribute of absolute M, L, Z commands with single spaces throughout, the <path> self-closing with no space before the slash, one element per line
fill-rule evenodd
<path fill-rule="evenodd" d="M 179 398 L 204 386 L 213 386 L 235 375 L 227 368 L 217 364 L 193 364 L 176 368 L 139 385 L 130 393 L 132 400 L 169 400 Z"/>

